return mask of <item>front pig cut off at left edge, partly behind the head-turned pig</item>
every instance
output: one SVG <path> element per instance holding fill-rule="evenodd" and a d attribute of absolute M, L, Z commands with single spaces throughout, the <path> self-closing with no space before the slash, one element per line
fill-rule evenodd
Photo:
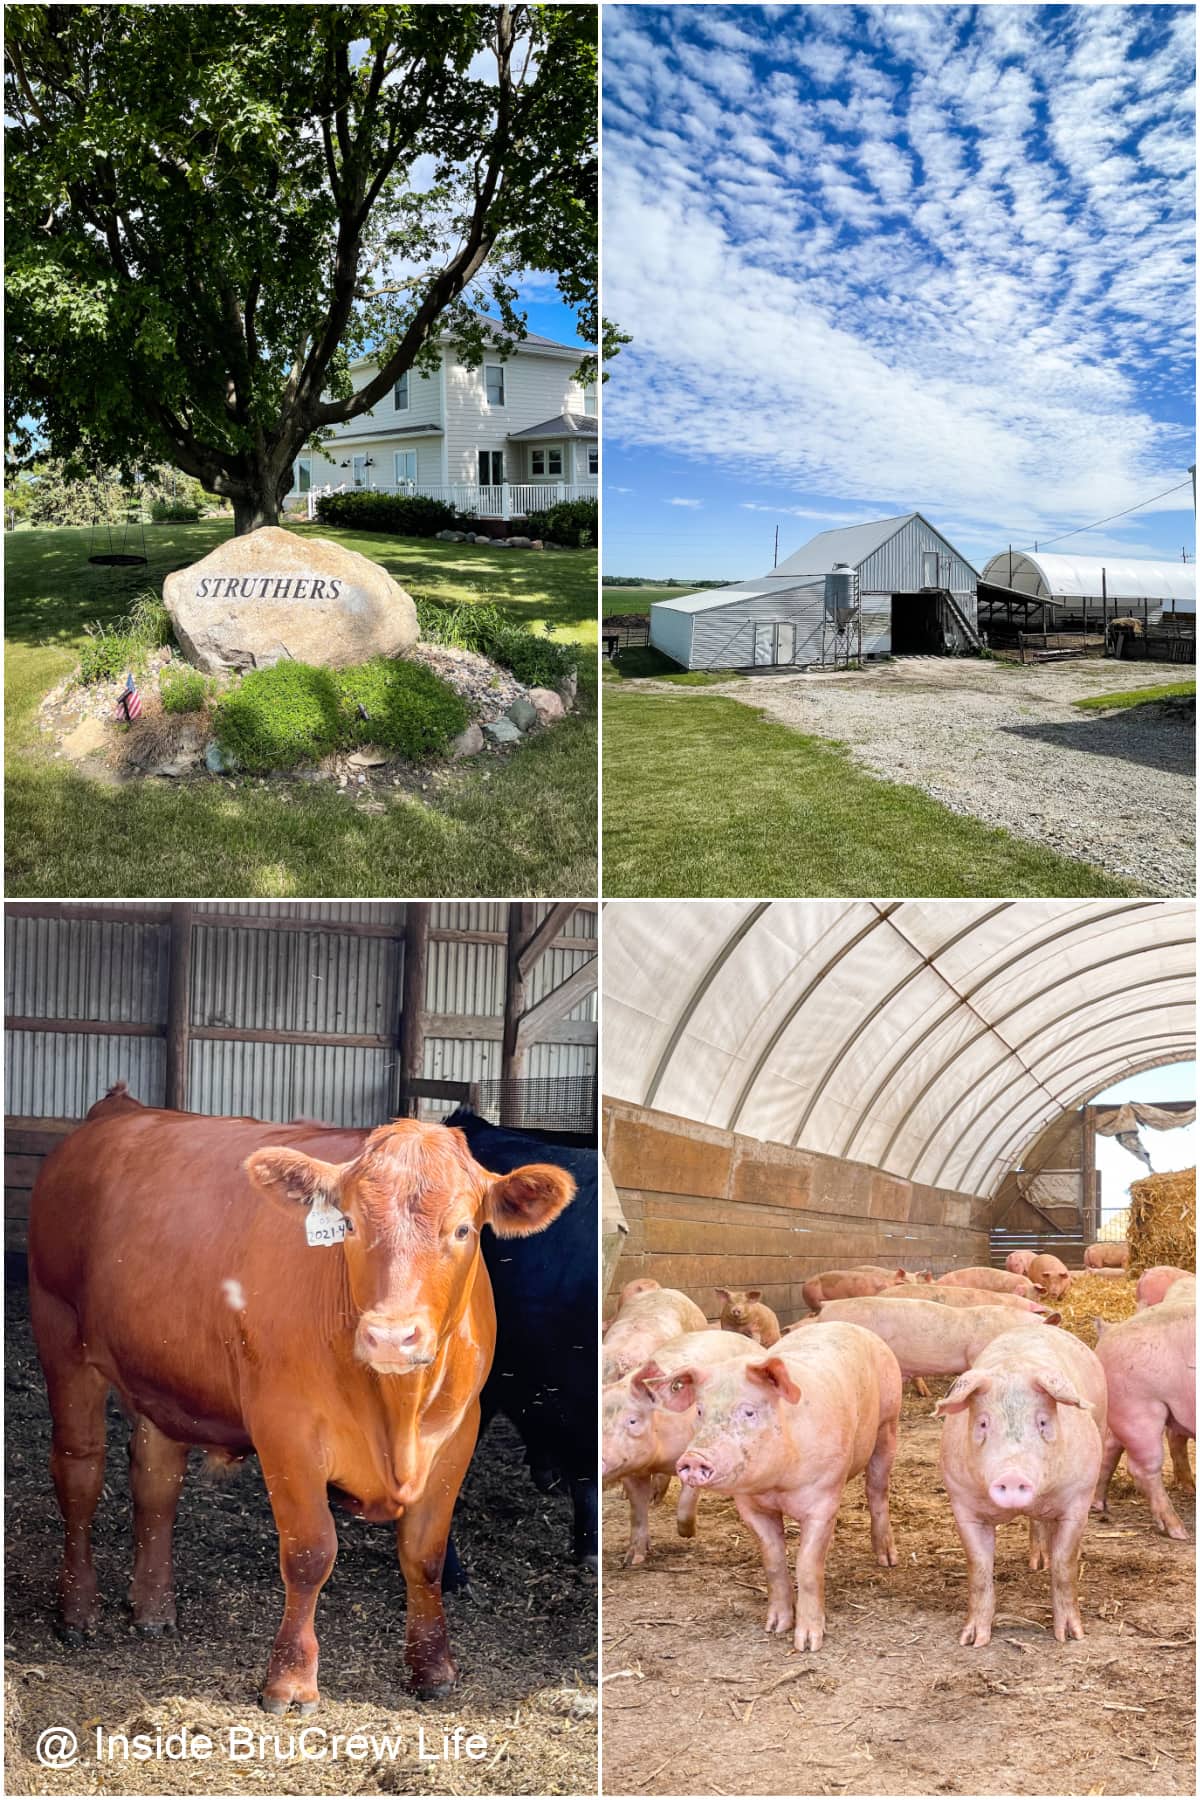
<path fill-rule="evenodd" d="M 711 1368 L 732 1357 L 754 1355 L 756 1346 L 736 1332 L 684 1332 L 662 1345 L 631 1375 L 610 1382 L 603 1393 L 601 1476 L 621 1481 L 630 1501 L 630 1548 L 626 1568 L 640 1568 L 649 1555 L 649 1503 L 655 1478 L 675 1474 L 675 1463 L 687 1449 L 696 1415 L 655 1406 L 655 1388 L 680 1368 Z M 694 1537 L 694 1487 L 680 1487 L 675 1525 L 680 1537 Z"/>

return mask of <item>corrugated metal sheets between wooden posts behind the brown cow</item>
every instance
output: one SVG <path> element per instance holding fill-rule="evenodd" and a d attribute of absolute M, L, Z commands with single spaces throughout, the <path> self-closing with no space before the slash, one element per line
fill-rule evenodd
<path fill-rule="evenodd" d="M 122 907 L 124 914 L 130 911 Z M 403 994 L 399 932 L 405 905 L 234 902 L 205 904 L 198 911 L 221 916 L 221 923 L 196 922 L 193 929 L 193 1033 L 295 1031 L 385 1042 L 279 1044 L 193 1035 L 189 1109 L 266 1120 L 309 1116 L 336 1125 L 374 1125 L 389 1118 L 398 1091 L 394 1039 Z M 534 922 L 545 913 L 545 905 L 534 907 Z M 279 920 L 279 925 L 239 925 L 239 916 Z M 304 929 L 302 920 L 327 929 Z M 336 931 L 336 923 L 372 923 L 383 932 L 356 936 Z M 5 1031 L 5 1112 L 81 1118 L 119 1080 L 148 1105 L 162 1105 L 167 922 L 34 918 L 13 911 L 5 925 L 5 1015 L 115 1021 L 144 1024 L 157 1033 Z M 435 904 L 430 927 L 502 936 L 507 904 Z M 596 932 L 596 909 L 579 907 L 561 936 L 587 943 Z M 590 947 L 549 950 L 533 972 L 529 999 L 542 999 L 592 954 Z M 443 1030 L 426 1037 L 426 1076 L 457 1082 L 498 1076 L 504 967 L 502 941 L 430 941 L 425 1004 L 439 1015 Z M 462 1019 L 462 1031 L 452 1030 L 453 1019 Z M 482 1021 L 488 1021 L 484 1035 Z M 569 1021 L 596 1021 L 596 995 L 581 1001 Z M 525 1073 L 594 1075 L 596 1062 L 594 1042 L 536 1044 Z M 439 1118 L 446 1105 L 426 1100 L 421 1111 Z"/>

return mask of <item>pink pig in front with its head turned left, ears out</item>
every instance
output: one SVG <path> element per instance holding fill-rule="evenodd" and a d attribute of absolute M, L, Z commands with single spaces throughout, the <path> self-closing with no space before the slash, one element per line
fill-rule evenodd
<path fill-rule="evenodd" d="M 763 1550 L 766 1629 L 793 1631 L 797 1651 L 826 1634 L 826 1553 L 842 1492 L 865 1471 L 871 1548 L 896 1562 L 887 1481 L 896 1456 L 900 1366 L 882 1337 L 856 1325 L 793 1332 L 763 1357 L 680 1370 L 658 1388 L 660 1404 L 696 1408 L 680 1480 L 732 1494 Z M 799 1519 L 795 1606 L 788 1582 L 784 1517 Z"/>

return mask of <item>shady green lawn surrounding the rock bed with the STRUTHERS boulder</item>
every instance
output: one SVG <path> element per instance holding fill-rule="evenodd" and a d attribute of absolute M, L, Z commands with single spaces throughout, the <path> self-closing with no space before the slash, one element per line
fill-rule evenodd
<path fill-rule="evenodd" d="M 432 599 L 491 599 L 513 617 L 596 643 L 596 554 L 493 551 L 300 526 L 383 563 Z M 81 529 L 5 535 L 9 895 L 587 895 L 596 891 L 596 675 L 581 706 L 498 763 L 464 763 L 428 797 L 394 790 L 381 815 L 326 783 L 131 781 L 108 787 L 52 761 L 40 698 L 67 675 L 90 619 L 205 556 L 228 522 L 148 526 L 149 563 L 112 583 Z"/>

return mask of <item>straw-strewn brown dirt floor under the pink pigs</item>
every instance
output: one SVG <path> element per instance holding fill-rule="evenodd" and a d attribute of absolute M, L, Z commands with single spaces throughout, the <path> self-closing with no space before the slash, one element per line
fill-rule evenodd
<path fill-rule="evenodd" d="M 934 1395 L 948 1382 L 930 1382 Z M 1025 1526 L 997 1541 L 999 1611 L 961 1649 L 964 1557 L 937 1485 L 941 1424 L 905 1399 L 894 1570 L 871 1559 L 862 1481 L 828 1564 L 828 1636 L 797 1656 L 763 1634 L 757 1544 L 732 1501 L 700 1501 L 622 1570 L 628 1507 L 604 1505 L 604 1791 L 655 1795 L 1193 1795 L 1195 1552 L 1159 1537 L 1124 1474 L 1085 1539 L 1083 1642 L 1049 1631 Z M 1193 1501 L 1173 1501 L 1191 1528 Z M 792 1535 L 793 1528 L 790 1528 Z"/>

